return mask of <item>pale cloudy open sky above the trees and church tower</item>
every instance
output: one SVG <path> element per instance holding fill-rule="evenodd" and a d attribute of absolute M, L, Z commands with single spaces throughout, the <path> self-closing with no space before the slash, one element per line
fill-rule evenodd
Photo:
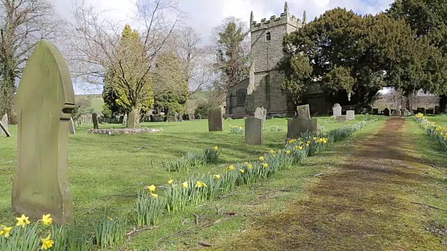
<path fill-rule="evenodd" d="M 63 17 L 69 18 L 75 0 L 49 0 Z M 98 10 L 109 10 L 108 17 L 131 23 L 133 0 L 84 0 Z M 174 0 L 175 1 L 175 0 Z M 336 7 L 354 10 L 358 14 L 375 14 L 386 10 L 393 0 L 294 0 L 288 1 L 291 15 L 302 19 L 306 10 L 307 21 L 314 20 L 325 12 Z M 250 12 L 253 10 L 254 20 L 269 19 L 279 16 L 284 11 L 284 1 L 278 0 L 178 0 L 179 8 L 188 13 L 189 18 L 183 20 L 202 36 L 203 43 L 209 43 L 212 28 L 221 24 L 228 16 L 238 17 L 249 24 Z M 75 88 L 75 92 L 83 92 Z"/>

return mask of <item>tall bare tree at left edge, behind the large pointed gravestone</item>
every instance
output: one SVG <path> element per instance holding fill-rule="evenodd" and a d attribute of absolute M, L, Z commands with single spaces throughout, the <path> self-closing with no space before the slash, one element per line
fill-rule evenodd
<path fill-rule="evenodd" d="M 0 0 L 0 114 L 10 116 L 15 82 L 38 40 L 54 40 L 63 26 L 46 0 Z"/>

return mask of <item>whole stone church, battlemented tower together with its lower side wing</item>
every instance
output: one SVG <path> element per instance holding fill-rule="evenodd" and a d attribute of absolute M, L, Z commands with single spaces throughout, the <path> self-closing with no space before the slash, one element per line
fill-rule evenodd
<path fill-rule="evenodd" d="M 305 18 L 305 17 L 303 17 Z M 226 115 L 233 119 L 253 116 L 256 107 L 264 107 L 268 116 L 295 116 L 295 104 L 292 99 L 281 93 L 284 74 L 279 73 L 279 63 L 284 57 L 283 38 L 286 34 L 305 25 L 288 10 L 287 2 L 284 13 L 279 17 L 265 18 L 260 23 L 250 17 L 251 32 L 251 68 L 249 77 L 230 86 L 226 97 Z M 317 85 L 316 85 L 317 86 Z M 319 88 L 309 88 L 305 95 L 312 114 L 326 114 L 326 104 Z"/>

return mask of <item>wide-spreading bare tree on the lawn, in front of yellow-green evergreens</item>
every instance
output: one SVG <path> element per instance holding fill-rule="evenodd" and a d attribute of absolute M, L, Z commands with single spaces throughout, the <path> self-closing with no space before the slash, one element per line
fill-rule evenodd
<path fill-rule="evenodd" d="M 142 46 L 122 50 L 120 44 L 122 22 L 113 22 L 104 17 L 105 12 L 82 1 L 74 9 L 73 36 L 71 37 L 71 66 L 81 82 L 104 84 L 112 75 L 112 85 L 122 104 L 132 111 L 129 127 L 138 126 L 138 114 L 142 100 L 153 95 L 148 88 L 159 53 L 166 47 L 183 17 L 177 3 L 171 0 L 137 0 L 134 20 L 140 23 Z M 136 54 L 140 54 L 137 56 Z M 133 69 L 133 70 L 130 70 Z M 112 70 L 112 72 L 110 72 Z M 152 85 L 156 84 L 150 82 Z"/>

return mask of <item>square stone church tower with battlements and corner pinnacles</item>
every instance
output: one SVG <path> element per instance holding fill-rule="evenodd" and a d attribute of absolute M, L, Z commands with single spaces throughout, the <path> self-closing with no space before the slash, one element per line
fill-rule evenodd
<path fill-rule="evenodd" d="M 252 64 L 245 100 L 245 115 L 254 114 L 256 107 L 264 107 L 269 116 L 293 116 L 295 107 L 281 94 L 284 75 L 279 73 L 279 63 L 284 57 L 283 38 L 302 27 L 303 22 L 291 15 L 287 2 L 284 13 L 261 22 L 250 16 Z"/>

